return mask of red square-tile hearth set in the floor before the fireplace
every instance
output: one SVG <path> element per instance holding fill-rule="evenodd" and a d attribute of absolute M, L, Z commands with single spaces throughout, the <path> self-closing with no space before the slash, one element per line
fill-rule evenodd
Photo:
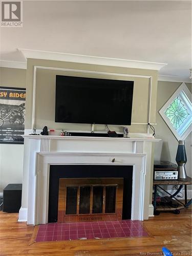
<path fill-rule="evenodd" d="M 141 221 L 48 223 L 39 225 L 35 242 L 148 237 Z"/>

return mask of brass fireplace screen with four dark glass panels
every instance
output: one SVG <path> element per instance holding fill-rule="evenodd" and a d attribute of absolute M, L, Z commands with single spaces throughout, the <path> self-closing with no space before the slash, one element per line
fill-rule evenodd
<path fill-rule="evenodd" d="M 123 178 L 59 179 L 57 222 L 122 219 Z"/>

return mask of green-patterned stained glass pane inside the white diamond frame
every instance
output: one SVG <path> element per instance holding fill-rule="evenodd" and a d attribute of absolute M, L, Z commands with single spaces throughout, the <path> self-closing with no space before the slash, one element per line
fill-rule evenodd
<path fill-rule="evenodd" d="M 168 117 L 175 130 L 177 130 L 181 124 L 185 121 L 189 115 L 185 105 L 179 96 L 168 106 L 164 111 L 165 115 Z"/>

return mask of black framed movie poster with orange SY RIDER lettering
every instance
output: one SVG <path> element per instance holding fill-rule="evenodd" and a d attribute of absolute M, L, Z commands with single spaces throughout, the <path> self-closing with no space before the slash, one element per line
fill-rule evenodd
<path fill-rule="evenodd" d="M 23 144 L 26 89 L 0 87 L 0 143 Z"/>

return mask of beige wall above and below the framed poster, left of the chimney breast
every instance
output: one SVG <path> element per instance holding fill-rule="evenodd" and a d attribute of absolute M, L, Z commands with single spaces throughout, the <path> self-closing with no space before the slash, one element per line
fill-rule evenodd
<path fill-rule="evenodd" d="M 25 88 L 26 70 L 0 68 L 0 86 Z M 9 183 L 22 183 L 24 145 L 0 144 L 0 193 Z"/>

